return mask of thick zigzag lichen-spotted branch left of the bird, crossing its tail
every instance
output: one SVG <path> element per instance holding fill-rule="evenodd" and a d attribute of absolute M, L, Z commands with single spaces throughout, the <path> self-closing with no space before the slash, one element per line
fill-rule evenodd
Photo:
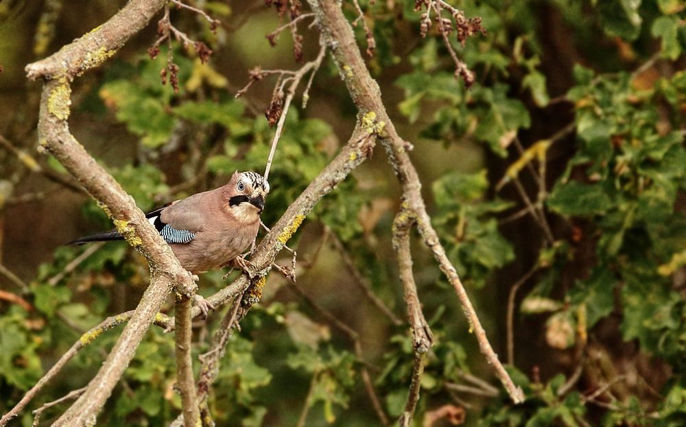
<path fill-rule="evenodd" d="M 45 77 L 38 121 L 39 144 L 53 154 L 86 188 L 113 219 L 117 230 L 150 263 L 151 280 L 139 306 L 88 388 L 55 426 L 94 424 L 143 336 L 161 308 L 169 288 L 190 296 L 196 289 L 190 273 L 176 260 L 169 245 L 137 208 L 134 200 L 93 159 L 69 132 L 71 106 L 69 82 L 115 53 L 130 36 L 147 24 L 163 6 L 163 0 L 134 0 L 113 18 L 60 49 L 53 56 L 29 64 L 29 78 Z"/>

